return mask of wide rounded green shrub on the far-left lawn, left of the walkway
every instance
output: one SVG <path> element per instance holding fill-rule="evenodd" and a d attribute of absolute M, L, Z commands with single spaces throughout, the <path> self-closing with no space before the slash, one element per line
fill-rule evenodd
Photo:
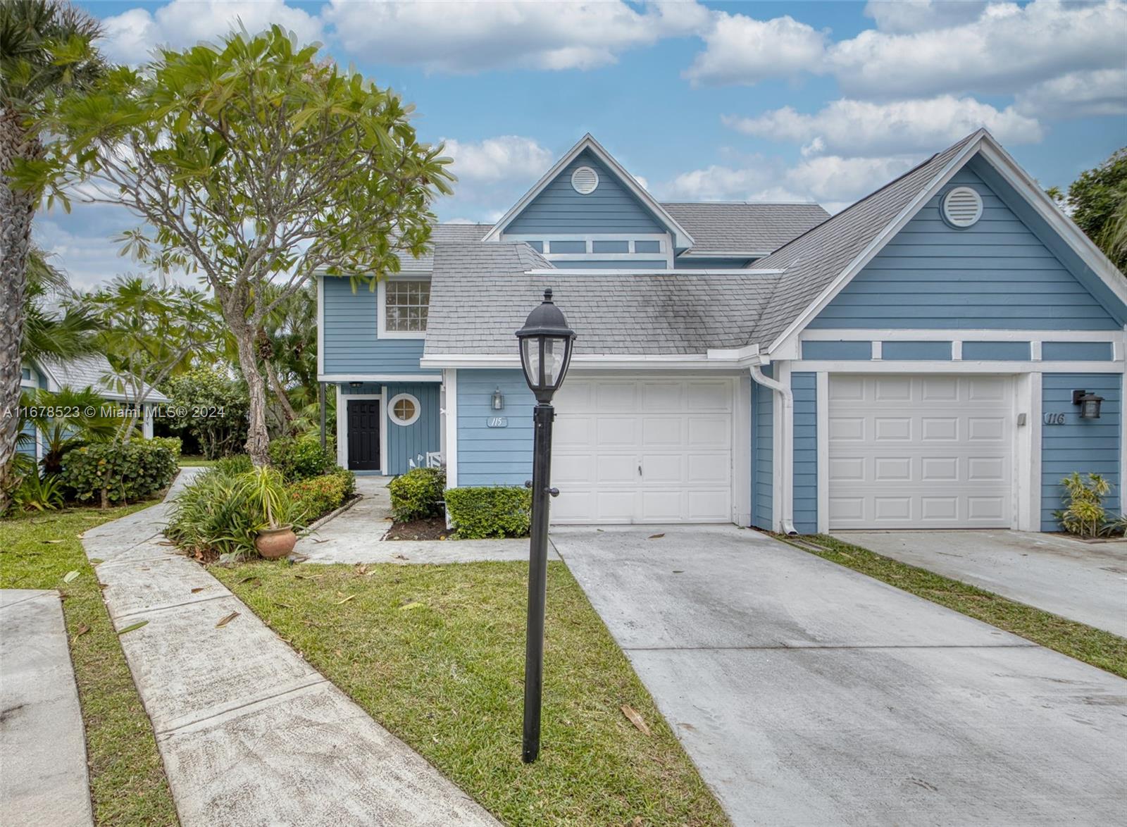
<path fill-rule="evenodd" d="M 125 445 L 94 443 L 63 455 L 59 481 L 74 499 L 89 500 L 105 491 L 107 503 L 151 497 L 176 475 L 172 452 L 152 439 Z"/>

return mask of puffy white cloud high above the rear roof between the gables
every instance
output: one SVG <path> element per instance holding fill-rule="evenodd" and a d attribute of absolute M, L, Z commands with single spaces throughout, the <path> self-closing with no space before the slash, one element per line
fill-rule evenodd
<path fill-rule="evenodd" d="M 765 78 L 819 71 L 826 47 L 825 32 L 789 15 L 756 20 L 719 11 L 703 38 L 704 51 L 684 72 L 694 85 L 749 86 Z"/>

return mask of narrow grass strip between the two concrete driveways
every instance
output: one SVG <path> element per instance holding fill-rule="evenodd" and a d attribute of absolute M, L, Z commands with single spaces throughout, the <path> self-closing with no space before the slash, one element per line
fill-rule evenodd
<path fill-rule="evenodd" d="M 780 539 L 788 540 L 783 536 Z M 977 586 L 891 560 L 835 537 L 819 534 L 802 540 L 820 546 L 820 551 L 813 551 L 798 545 L 805 551 L 811 551 L 818 557 L 875 577 L 932 603 L 953 608 L 956 612 L 1013 632 L 1085 664 L 1098 666 L 1112 675 L 1127 677 L 1127 639 L 1118 634 L 1066 620 Z"/>

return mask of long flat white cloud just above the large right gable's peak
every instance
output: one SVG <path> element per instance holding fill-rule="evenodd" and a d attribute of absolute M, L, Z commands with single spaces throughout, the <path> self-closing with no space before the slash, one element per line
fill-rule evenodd
<path fill-rule="evenodd" d="M 813 115 L 787 106 L 758 117 L 726 116 L 724 123 L 745 135 L 804 143 L 804 155 L 872 158 L 934 152 L 980 126 L 1003 143 L 1041 140 L 1040 124 L 1013 107 L 999 110 L 974 98 L 950 95 L 890 104 L 835 100 Z"/>

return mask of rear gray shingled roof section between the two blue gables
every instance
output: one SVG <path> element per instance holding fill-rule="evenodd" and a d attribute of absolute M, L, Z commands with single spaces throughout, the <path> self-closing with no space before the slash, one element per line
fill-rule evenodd
<path fill-rule="evenodd" d="M 662 204 L 689 231 L 693 252 L 766 255 L 829 217 L 818 204 Z"/>

